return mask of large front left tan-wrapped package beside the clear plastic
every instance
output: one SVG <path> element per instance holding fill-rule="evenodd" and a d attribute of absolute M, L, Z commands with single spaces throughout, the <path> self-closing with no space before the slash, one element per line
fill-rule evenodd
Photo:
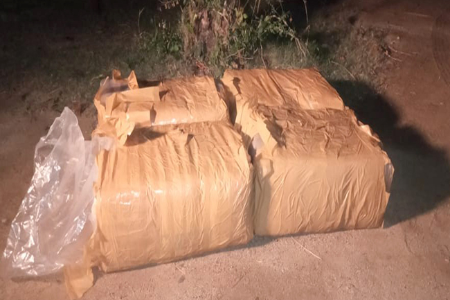
<path fill-rule="evenodd" d="M 100 152 L 97 162 L 96 231 L 86 252 L 91 266 L 125 270 L 253 237 L 253 170 L 228 122 L 135 130 L 126 145 Z M 89 281 L 79 274 L 85 272 L 66 268 L 73 297 Z"/>

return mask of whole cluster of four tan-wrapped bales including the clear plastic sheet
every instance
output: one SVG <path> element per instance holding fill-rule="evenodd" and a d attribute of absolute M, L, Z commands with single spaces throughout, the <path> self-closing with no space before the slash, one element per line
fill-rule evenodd
<path fill-rule="evenodd" d="M 8 272 L 64 269 L 77 298 L 92 267 L 174 261 L 253 233 L 381 226 L 393 166 L 318 71 L 226 71 L 219 87 L 222 99 L 208 77 L 139 88 L 115 71 L 94 99 L 92 141 L 64 109 L 37 145 Z"/>

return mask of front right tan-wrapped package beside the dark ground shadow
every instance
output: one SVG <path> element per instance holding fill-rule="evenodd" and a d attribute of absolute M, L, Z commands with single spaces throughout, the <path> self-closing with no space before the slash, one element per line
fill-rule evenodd
<path fill-rule="evenodd" d="M 351 109 L 258 112 L 268 138 L 253 143 L 257 235 L 383 224 L 393 166 Z"/>

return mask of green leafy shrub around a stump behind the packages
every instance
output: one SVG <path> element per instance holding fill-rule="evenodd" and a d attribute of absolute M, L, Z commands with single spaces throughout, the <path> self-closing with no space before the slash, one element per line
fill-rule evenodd
<path fill-rule="evenodd" d="M 155 22 L 154 32 L 144 35 L 143 46 L 181 57 L 206 73 L 218 76 L 228 67 L 246 67 L 272 40 L 289 40 L 306 55 L 282 6 L 271 4 L 260 15 L 255 5 L 251 9 L 238 0 L 164 0 L 161 7 L 180 8 L 179 18 L 172 24 L 165 19 Z"/>

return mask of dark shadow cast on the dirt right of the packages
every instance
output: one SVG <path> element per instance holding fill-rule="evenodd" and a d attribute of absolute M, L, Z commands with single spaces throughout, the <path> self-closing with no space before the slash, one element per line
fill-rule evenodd
<path fill-rule="evenodd" d="M 399 125 L 388 101 L 363 82 L 331 82 L 359 120 L 372 127 L 395 167 L 385 227 L 431 211 L 450 195 L 450 161 L 414 127 Z"/>

